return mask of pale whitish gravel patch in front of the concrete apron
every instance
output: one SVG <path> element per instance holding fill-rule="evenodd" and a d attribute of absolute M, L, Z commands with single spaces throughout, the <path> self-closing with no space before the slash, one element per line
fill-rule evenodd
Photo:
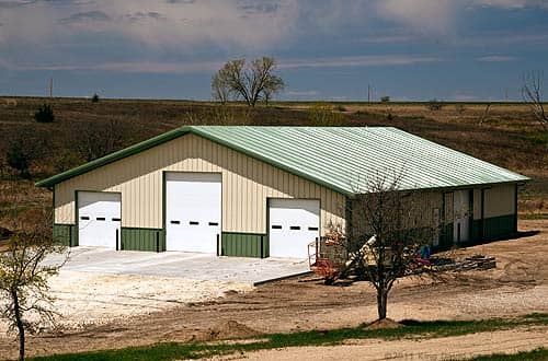
<path fill-rule="evenodd" d="M 112 275 L 64 270 L 49 279 L 54 308 L 60 314 L 58 326 L 65 331 L 89 325 L 125 323 L 137 315 L 168 312 L 189 302 L 224 298 L 247 292 L 251 284 L 202 281 L 184 278 Z M 5 325 L 0 321 L 0 333 Z"/>

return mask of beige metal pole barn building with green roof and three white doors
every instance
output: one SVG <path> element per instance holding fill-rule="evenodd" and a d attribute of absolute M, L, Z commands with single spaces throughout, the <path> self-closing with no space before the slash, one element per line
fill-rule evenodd
<path fill-rule="evenodd" d="M 307 257 L 352 222 L 364 179 L 401 171 L 448 247 L 509 237 L 528 178 L 390 127 L 181 127 L 38 182 L 70 246 Z"/>

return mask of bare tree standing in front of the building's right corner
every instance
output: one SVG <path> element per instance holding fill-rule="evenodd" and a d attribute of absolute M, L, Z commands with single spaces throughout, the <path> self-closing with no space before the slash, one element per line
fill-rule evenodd
<path fill-rule="evenodd" d="M 400 190 L 401 180 L 402 175 L 376 174 L 352 201 L 350 246 L 355 248 L 353 257 L 363 261 L 356 269 L 377 291 L 379 319 L 386 318 L 396 280 L 424 268 L 418 253 L 432 243 L 437 226 L 430 212 L 420 209 L 419 194 Z"/>

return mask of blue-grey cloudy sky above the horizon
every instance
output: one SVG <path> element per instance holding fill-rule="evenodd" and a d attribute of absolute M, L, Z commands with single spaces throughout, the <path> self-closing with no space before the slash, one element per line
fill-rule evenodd
<path fill-rule="evenodd" d="M 0 0 L 0 95 L 210 100 L 262 56 L 278 100 L 520 101 L 548 0 Z"/>

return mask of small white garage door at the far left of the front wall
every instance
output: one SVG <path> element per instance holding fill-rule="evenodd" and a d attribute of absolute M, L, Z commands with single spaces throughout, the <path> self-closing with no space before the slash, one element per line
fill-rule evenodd
<path fill-rule="evenodd" d="M 78 242 L 81 246 L 116 248 L 119 237 L 121 195 L 115 193 L 78 193 Z"/>

